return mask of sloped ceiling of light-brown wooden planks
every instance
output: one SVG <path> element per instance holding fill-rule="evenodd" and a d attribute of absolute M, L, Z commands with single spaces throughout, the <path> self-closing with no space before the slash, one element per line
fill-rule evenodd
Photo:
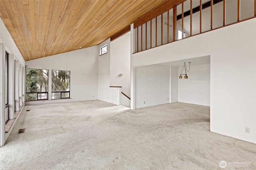
<path fill-rule="evenodd" d="M 0 0 L 25 61 L 98 45 L 168 0 Z"/>

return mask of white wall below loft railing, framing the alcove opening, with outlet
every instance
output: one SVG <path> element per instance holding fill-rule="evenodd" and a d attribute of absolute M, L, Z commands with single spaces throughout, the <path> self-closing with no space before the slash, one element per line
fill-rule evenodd
<path fill-rule="evenodd" d="M 136 66 L 210 55 L 210 130 L 256 143 L 256 32 L 252 30 L 256 18 L 131 54 L 131 108 L 137 102 Z"/>

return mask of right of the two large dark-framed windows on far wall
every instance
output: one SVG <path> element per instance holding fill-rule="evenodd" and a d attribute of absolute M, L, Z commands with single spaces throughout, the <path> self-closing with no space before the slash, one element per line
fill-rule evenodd
<path fill-rule="evenodd" d="M 70 71 L 52 70 L 52 99 L 70 98 Z"/>

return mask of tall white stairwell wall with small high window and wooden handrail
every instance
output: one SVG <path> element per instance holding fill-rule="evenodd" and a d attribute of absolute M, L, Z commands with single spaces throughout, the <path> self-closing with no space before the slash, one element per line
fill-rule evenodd
<path fill-rule="evenodd" d="M 107 53 L 100 55 L 100 48 L 104 45 L 107 45 Z M 123 76 L 119 76 L 121 73 Z M 121 91 L 130 96 L 130 33 L 98 45 L 98 99 L 130 107 L 128 98 L 121 97 Z"/>

